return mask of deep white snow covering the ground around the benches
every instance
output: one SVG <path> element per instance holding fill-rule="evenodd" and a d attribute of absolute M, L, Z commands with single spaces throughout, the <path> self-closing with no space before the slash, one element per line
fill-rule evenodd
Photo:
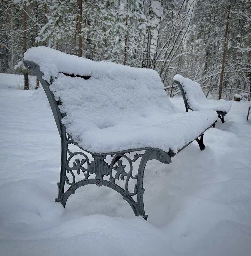
<path fill-rule="evenodd" d="M 0 74 L 0 255 L 250 255 L 248 102 L 165 165 L 148 162 L 148 221 L 106 187 L 55 203 L 60 137 L 47 98 Z M 12 79 L 12 80 L 11 80 Z M 182 98 L 171 99 L 185 111 Z"/>

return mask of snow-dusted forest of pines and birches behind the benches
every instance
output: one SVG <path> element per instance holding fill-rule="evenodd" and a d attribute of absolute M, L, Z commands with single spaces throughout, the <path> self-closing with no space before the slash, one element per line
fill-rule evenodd
<path fill-rule="evenodd" d="M 95 61 L 155 69 L 231 100 L 251 90 L 251 0 L 0 0 L 0 73 L 24 74 L 24 52 L 45 45 Z M 179 95 L 180 96 L 180 95 Z"/>

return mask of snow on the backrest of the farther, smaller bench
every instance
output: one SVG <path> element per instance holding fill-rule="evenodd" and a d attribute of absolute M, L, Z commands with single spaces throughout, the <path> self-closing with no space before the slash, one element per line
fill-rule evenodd
<path fill-rule="evenodd" d="M 173 80 L 178 81 L 181 84 L 186 93 L 187 103 L 193 110 L 198 110 L 198 104 L 206 104 L 207 99 L 199 83 L 178 74 L 173 77 Z"/>

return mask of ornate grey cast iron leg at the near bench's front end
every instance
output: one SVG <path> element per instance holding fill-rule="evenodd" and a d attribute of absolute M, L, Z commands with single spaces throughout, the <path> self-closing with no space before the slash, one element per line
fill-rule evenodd
<path fill-rule="evenodd" d="M 171 157 L 166 152 L 149 148 L 144 150 L 143 154 L 138 154 L 136 151 L 131 151 L 134 153 L 133 159 L 125 155 L 127 152 L 119 152 L 115 154 L 112 158 L 110 165 L 104 161 L 106 154 L 92 154 L 94 158 L 91 162 L 89 161 L 87 155 L 83 152 L 71 152 L 68 145 L 73 144 L 71 138 L 67 135 L 67 138 L 63 137 L 62 139 L 62 162 L 61 162 L 61 174 L 60 182 L 58 183 L 58 198 L 55 199 L 56 202 L 61 202 L 65 207 L 66 201 L 71 194 L 75 193 L 75 190 L 81 186 L 87 184 L 96 184 L 97 186 L 106 186 L 117 191 L 120 195 L 123 196 L 129 205 L 132 207 L 135 216 L 143 216 L 147 220 L 147 215 L 145 214 L 144 209 L 144 171 L 148 160 L 157 159 L 162 163 L 168 164 L 171 163 Z M 66 153 L 66 157 L 65 157 Z M 68 153 L 68 154 L 67 154 Z M 129 152 L 128 152 L 129 153 Z M 68 155 L 68 157 L 67 157 Z M 82 160 L 77 158 L 77 155 L 82 156 Z M 133 175 L 133 162 L 141 158 L 138 172 L 136 175 Z M 73 160 L 73 166 L 69 166 L 69 162 Z M 129 171 L 125 171 L 125 164 L 129 165 Z M 87 163 L 87 168 L 83 165 Z M 80 174 L 82 171 L 84 173 L 84 179 L 76 182 L 75 174 L 73 171 L 77 171 L 77 174 Z M 114 175 L 115 171 L 115 175 Z M 67 174 L 72 175 L 72 182 L 69 182 Z M 89 178 L 90 175 L 95 174 L 95 178 Z M 109 180 L 104 179 L 104 176 L 108 176 Z M 116 184 L 118 180 L 125 181 L 123 188 Z M 135 185 L 133 191 L 129 191 L 128 182 L 129 180 L 135 180 Z M 70 185 L 68 190 L 64 192 L 65 182 Z M 133 196 L 137 197 L 137 201 L 133 199 Z"/>

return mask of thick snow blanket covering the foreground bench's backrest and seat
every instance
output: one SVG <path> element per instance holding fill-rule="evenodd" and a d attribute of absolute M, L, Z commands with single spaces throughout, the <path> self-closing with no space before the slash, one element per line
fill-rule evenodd
<path fill-rule="evenodd" d="M 47 47 L 27 50 L 24 59 L 38 64 L 48 82 L 57 77 L 49 88 L 62 101 L 62 123 L 90 152 L 155 147 L 176 153 L 217 120 L 212 110 L 180 112 L 151 69 L 95 62 Z"/>

